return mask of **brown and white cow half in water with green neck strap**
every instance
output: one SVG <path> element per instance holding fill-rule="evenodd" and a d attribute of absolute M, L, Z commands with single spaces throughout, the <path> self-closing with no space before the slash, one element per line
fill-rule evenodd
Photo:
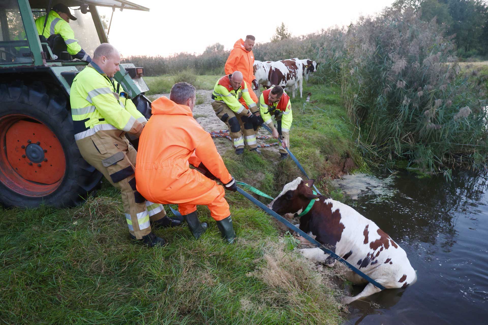
<path fill-rule="evenodd" d="M 393 239 L 351 207 L 314 194 L 312 185 L 313 180 L 304 181 L 298 177 L 286 184 L 268 207 L 282 215 L 300 214 L 311 200 L 318 198 L 312 209 L 300 218 L 301 230 L 385 288 L 405 288 L 417 280 L 405 250 Z M 329 255 L 322 249 L 300 249 L 300 252 L 310 260 L 326 260 L 329 267 L 338 265 L 346 268 L 332 258 L 327 259 Z M 346 273 L 346 279 L 355 284 L 366 283 L 353 271 Z M 379 291 L 381 289 L 368 283 L 360 294 L 344 297 L 341 303 L 347 305 Z"/>

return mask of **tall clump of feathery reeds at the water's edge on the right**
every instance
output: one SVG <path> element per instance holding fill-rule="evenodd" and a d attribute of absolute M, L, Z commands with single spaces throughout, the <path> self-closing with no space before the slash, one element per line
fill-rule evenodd
<path fill-rule="evenodd" d="M 342 93 L 360 140 L 382 161 L 437 167 L 480 162 L 488 152 L 487 96 L 460 74 L 443 30 L 413 11 L 361 18 L 345 37 Z"/>

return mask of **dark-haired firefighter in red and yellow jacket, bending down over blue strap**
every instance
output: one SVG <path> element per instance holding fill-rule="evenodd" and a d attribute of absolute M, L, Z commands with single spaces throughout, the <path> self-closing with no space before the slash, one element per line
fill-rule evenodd
<path fill-rule="evenodd" d="M 265 90 L 259 99 L 261 117 L 271 131 L 275 138 L 280 138 L 283 145 L 280 145 L 280 155 L 282 159 L 288 156 L 285 148 L 290 146 L 290 127 L 293 121 L 291 115 L 291 101 L 290 97 L 283 91 L 281 86 L 274 86 Z M 278 130 L 273 125 L 271 115 L 274 115 L 278 124 Z"/>

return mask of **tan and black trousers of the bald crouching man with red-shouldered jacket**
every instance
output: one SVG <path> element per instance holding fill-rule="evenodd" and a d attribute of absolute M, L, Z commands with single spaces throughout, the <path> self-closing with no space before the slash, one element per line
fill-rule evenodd
<path fill-rule="evenodd" d="M 244 148 L 244 144 L 248 149 L 257 148 L 256 131 L 247 116 L 235 113 L 221 101 L 213 101 L 212 108 L 215 115 L 229 128 L 229 135 L 232 138 L 234 149 Z M 256 113 L 259 111 L 257 107 L 254 107 L 251 112 Z"/>

